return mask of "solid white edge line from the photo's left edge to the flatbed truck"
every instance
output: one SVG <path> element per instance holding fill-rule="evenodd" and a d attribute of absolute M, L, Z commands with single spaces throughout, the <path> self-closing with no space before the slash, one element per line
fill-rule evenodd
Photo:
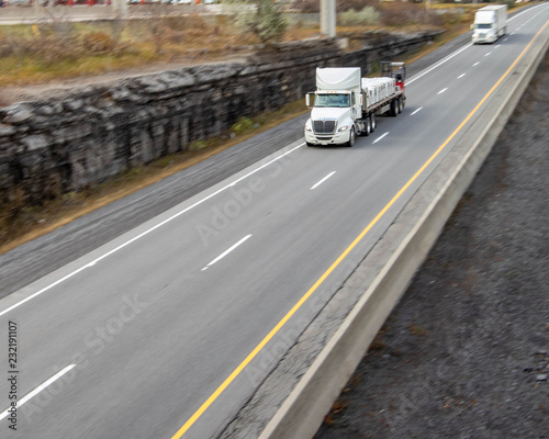
<path fill-rule="evenodd" d="M 112 254 L 114 254 L 114 252 L 116 252 L 116 251 L 121 250 L 122 248 L 124 248 L 124 247 L 128 246 L 130 244 L 132 244 L 132 243 L 136 241 L 137 239 L 143 238 L 144 236 L 148 235 L 150 232 L 156 230 L 157 228 L 159 228 L 159 227 L 161 227 L 161 226 L 166 225 L 167 223 L 171 222 L 172 219 L 177 218 L 178 216 L 181 216 L 182 214 L 184 214 L 184 213 L 189 212 L 191 209 L 194 209 L 194 207 L 197 207 L 198 205 L 200 205 L 200 204 L 204 203 L 205 201 L 208 201 L 208 200 L 210 200 L 210 199 L 214 198 L 215 195 L 217 195 L 217 194 L 220 194 L 221 192 L 223 192 L 223 191 L 227 190 L 228 188 L 233 187 L 233 185 L 234 185 L 234 184 L 236 184 L 237 182 L 239 182 L 239 181 L 242 181 L 242 180 L 244 180 L 244 179 L 246 179 L 246 178 L 248 178 L 248 177 L 253 176 L 254 173 L 256 173 L 256 172 L 260 171 L 261 169 L 266 168 L 267 166 L 272 165 L 273 162 L 276 162 L 276 161 L 280 160 L 282 157 L 285 157 L 287 155 L 289 155 L 289 154 L 293 153 L 294 150 L 296 150 L 296 149 L 301 148 L 303 145 L 305 145 L 305 143 L 301 143 L 301 144 L 299 144 L 298 146 L 295 146 L 294 148 L 287 150 L 284 154 L 280 155 L 279 157 L 276 157 L 276 158 L 273 158 L 272 160 L 269 160 L 268 162 L 266 162 L 266 164 L 261 165 L 260 167 L 258 167 L 258 168 L 254 169 L 253 171 L 250 171 L 250 172 L 246 173 L 245 176 L 243 176 L 243 177 L 240 177 L 240 178 L 236 179 L 235 181 L 233 181 L 233 182 L 231 182 L 231 183 L 228 183 L 228 184 L 224 185 L 223 188 L 221 188 L 221 189 L 216 190 L 215 192 L 212 192 L 210 195 L 206 195 L 206 196 L 204 196 L 203 199 L 200 199 L 199 201 L 197 201 L 195 203 L 191 204 L 190 206 L 188 206 L 188 207 L 183 209 L 182 211 L 180 211 L 180 212 L 178 212 L 178 213 L 176 213 L 176 214 L 171 215 L 170 217 L 168 217 L 168 218 L 166 218 L 166 219 L 161 221 L 160 223 L 158 223 L 158 224 L 154 225 L 153 227 L 150 227 L 150 228 L 146 229 L 145 232 L 141 233 L 139 235 L 134 236 L 133 238 L 131 238 L 131 239 L 128 239 L 127 241 L 125 241 L 125 243 L 121 244 L 120 246 L 117 246 L 117 247 L 113 248 L 112 250 L 110 250 L 110 251 L 105 252 L 104 255 L 100 256 L 99 258 L 96 258 L 94 260 L 92 260 L 91 262 L 87 263 L 86 266 L 82 266 L 82 267 L 80 267 L 79 269 L 76 269 L 75 271 L 72 271 L 72 272 L 68 273 L 67 275 L 63 277 L 61 279 L 59 279 L 59 280 L 55 281 L 54 283 L 51 283 L 49 285 L 44 286 L 42 290 L 40 290 L 40 291 L 35 292 L 34 294 L 31 294 L 29 297 L 25 297 L 25 299 L 23 299 L 22 301 L 20 301 L 20 302 L 18 302 L 18 303 L 15 303 L 15 304 L 11 305 L 10 307 L 5 308 L 4 311 L 1 311 L 1 312 L 0 312 L 0 317 L 1 317 L 1 316 L 3 316 L 4 314 L 8 314 L 10 311 L 15 309 L 16 307 L 19 307 L 19 306 L 23 305 L 24 303 L 29 302 L 30 300 L 32 300 L 32 299 L 34 299 L 34 297 L 36 297 L 36 296 L 38 296 L 38 295 L 41 295 L 41 294 L 45 293 L 46 291 L 48 291 L 48 290 L 53 289 L 54 286 L 58 285 L 59 283 L 65 282 L 67 279 L 72 278 L 74 275 L 78 274 L 80 271 L 82 271 L 82 270 L 87 269 L 88 267 L 92 267 L 92 266 L 94 266 L 94 264 L 96 264 L 97 262 L 99 262 L 100 260 L 105 259 L 107 257 L 109 257 L 109 256 L 111 256 Z"/>

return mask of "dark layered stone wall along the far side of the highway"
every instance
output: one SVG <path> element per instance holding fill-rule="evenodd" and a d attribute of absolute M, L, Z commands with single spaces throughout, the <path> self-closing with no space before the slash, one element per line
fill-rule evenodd
<path fill-rule="evenodd" d="M 40 204 L 81 190 L 219 136 L 240 116 L 302 99 L 314 90 L 316 67 L 369 71 L 371 61 L 393 59 L 435 34 L 378 34 L 352 53 L 334 40 L 277 45 L 245 64 L 75 88 L 0 109 L 0 213 L 15 201 Z"/>

